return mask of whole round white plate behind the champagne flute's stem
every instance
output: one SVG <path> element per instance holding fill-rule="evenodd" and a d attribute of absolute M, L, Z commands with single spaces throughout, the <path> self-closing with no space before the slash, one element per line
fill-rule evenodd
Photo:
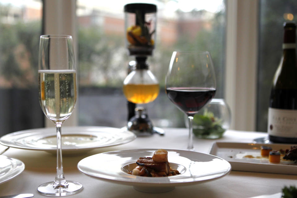
<path fill-rule="evenodd" d="M 126 144 L 135 140 L 131 131 L 113 127 L 62 127 L 63 154 Z M 0 143 L 19 149 L 57 151 L 56 129 L 39 128 L 18 131 L 0 138 Z"/>

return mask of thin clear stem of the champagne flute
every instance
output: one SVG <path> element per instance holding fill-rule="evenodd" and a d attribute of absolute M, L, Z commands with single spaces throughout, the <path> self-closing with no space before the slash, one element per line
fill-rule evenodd
<path fill-rule="evenodd" d="M 61 127 L 62 123 L 56 123 L 57 130 L 57 174 L 54 181 L 55 187 L 67 187 L 68 183 L 64 177 L 62 165 L 62 141 L 61 141 Z"/>

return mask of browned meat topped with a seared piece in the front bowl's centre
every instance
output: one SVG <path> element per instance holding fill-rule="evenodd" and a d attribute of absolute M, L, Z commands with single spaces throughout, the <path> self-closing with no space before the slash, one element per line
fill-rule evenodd
<path fill-rule="evenodd" d="M 140 157 L 133 170 L 129 174 L 146 177 L 166 177 L 180 174 L 178 170 L 170 167 L 168 152 L 165 149 L 158 149 L 153 157 Z"/>

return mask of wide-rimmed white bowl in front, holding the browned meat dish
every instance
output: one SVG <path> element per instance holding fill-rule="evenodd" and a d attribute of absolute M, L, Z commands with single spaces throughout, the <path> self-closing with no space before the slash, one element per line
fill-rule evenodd
<path fill-rule="evenodd" d="M 170 166 L 180 174 L 169 177 L 142 177 L 128 174 L 139 157 L 152 157 L 157 149 L 135 149 L 99 153 L 82 159 L 77 167 L 97 179 L 131 185 L 141 192 L 168 192 L 175 186 L 193 185 L 227 175 L 231 165 L 222 158 L 185 150 L 168 149 Z"/>

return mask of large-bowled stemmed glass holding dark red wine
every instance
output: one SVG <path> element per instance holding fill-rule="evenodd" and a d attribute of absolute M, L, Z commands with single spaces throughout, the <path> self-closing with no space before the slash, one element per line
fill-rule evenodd
<path fill-rule="evenodd" d="M 213 61 L 207 51 L 175 51 L 172 53 L 165 80 L 170 101 L 189 119 L 187 150 L 193 146 L 193 117 L 216 93 Z"/>

